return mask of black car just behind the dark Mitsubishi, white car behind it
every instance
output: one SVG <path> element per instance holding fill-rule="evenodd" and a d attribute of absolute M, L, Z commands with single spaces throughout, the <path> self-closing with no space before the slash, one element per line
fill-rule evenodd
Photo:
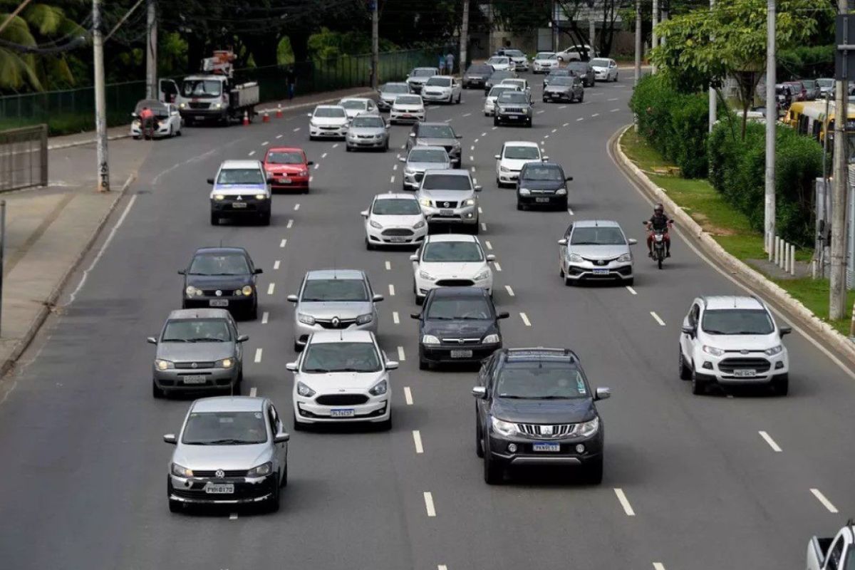
<path fill-rule="evenodd" d="M 432 364 L 474 363 L 502 348 L 497 313 L 481 287 L 439 287 L 428 293 L 419 320 L 419 369 Z"/>

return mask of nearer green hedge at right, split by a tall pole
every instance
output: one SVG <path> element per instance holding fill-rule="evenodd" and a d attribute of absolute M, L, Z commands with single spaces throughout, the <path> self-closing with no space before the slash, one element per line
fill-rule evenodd
<path fill-rule="evenodd" d="M 748 216 L 758 232 L 764 226 L 766 127 L 748 123 L 746 138 L 727 120 L 716 125 L 707 142 L 710 182 Z M 787 126 L 775 129 L 775 222 L 789 242 L 813 244 L 813 183 L 823 173 L 823 147 Z"/>

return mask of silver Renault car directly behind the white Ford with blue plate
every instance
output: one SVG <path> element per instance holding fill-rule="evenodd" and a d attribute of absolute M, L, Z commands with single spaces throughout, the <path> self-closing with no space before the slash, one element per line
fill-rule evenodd
<path fill-rule="evenodd" d="M 356 269 L 320 269 L 306 273 L 294 307 L 294 350 L 303 350 L 313 332 L 325 330 L 377 332 L 377 306 L 368 276 Z"/>

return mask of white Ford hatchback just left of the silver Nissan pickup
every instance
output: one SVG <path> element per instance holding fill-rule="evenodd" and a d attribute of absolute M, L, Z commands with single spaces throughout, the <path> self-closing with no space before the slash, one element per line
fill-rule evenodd
<path fill-rule="evenodd" d="M 412 194 L 378 194 L 362 215 L 367 250 L 378 245 L 417 245 L 428 235 L 428 221 Z"/>

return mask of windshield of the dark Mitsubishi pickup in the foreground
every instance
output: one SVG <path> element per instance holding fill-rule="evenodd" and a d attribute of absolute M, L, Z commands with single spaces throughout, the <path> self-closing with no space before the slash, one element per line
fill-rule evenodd
<path fill-rule="evenodd" d="M 498 397 L 530 399 L 587 398 L 581 370 L 569 362 L 505 362 L 493 393 Z"/>

